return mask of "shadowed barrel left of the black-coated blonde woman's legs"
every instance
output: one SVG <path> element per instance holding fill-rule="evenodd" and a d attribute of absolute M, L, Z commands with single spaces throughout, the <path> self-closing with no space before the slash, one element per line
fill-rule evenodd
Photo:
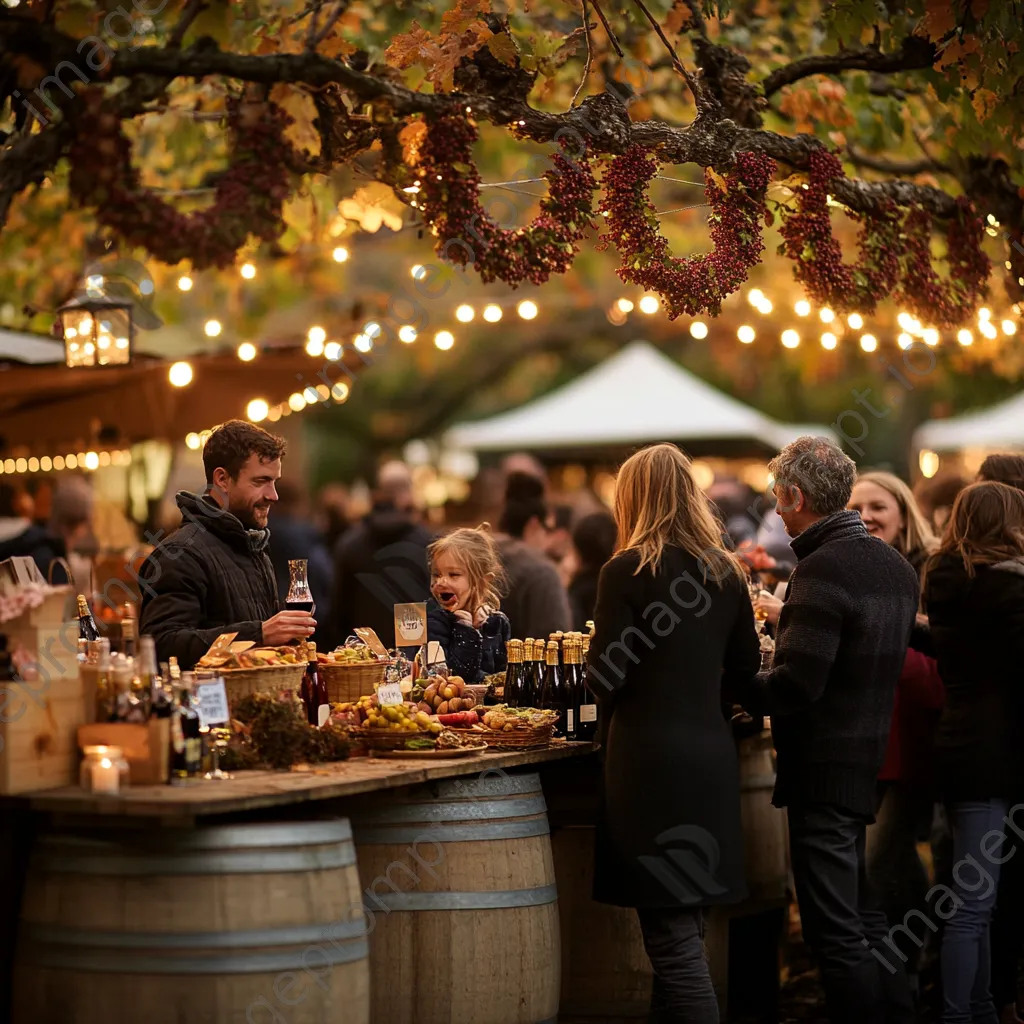
<path fill-rule="evenodd" d="M 561 1012 L 568 1018 L 646 1020 L 651 969 L 636 910 L 597 903 L 593 827 L 555 829 L 562 938 Z"/>

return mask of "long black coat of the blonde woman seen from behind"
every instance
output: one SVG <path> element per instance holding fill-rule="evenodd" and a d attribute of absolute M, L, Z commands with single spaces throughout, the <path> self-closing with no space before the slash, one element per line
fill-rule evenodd
<path fill-rule="evenodd" d="M 595 898 L 633 907 L 733 903 L 746 887 L 735 741 L 723 713 L 757 673 L 744 583 L 705 581 L 667 548 L 655 573 L 636 552 L 601 572 L 588 686 L 604 743 Z"/>

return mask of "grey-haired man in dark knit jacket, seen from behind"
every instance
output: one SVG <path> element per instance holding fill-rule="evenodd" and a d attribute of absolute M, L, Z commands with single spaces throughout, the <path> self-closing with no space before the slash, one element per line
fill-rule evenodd
<path fill-rule="evenodd" d="M 869 907 L 864 829 L 877 809 L 918 577 L 847 511 L 856 468 L 839 445 L 800 437 L 769 471 L 799 561 L 772 668 L 758 676 L 751 705 L 771 715 L 774 803 L 787 809 L 804 937 L 833 1024 L 909 1024 L 899 957 L 884 949 L 884 965 L 872 955 L 886 921 Z"/>

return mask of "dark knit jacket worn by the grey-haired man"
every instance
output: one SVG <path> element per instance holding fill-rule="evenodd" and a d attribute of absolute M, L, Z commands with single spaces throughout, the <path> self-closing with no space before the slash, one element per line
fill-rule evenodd
<path fill-rule="evenodd" d="M 918 573 L 856 512 L 793 541 L 799 562 L 775 656 L 753 707 L 771 716 L 774 802 L 836 804 L 873 817 L 896 681 L 919 602 Z"/>

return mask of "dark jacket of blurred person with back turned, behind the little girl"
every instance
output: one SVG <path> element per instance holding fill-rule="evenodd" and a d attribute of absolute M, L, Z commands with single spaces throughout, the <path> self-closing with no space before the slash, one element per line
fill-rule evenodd
<path fill-rule="evenodd" d="M 332 638 L 344 643 L 369 626 L 394 646 L 394 605 L 430 596 L 427 545 L 434 536 L 393 505 L 378 504 L 338 542 L 334 552 Z"/>

